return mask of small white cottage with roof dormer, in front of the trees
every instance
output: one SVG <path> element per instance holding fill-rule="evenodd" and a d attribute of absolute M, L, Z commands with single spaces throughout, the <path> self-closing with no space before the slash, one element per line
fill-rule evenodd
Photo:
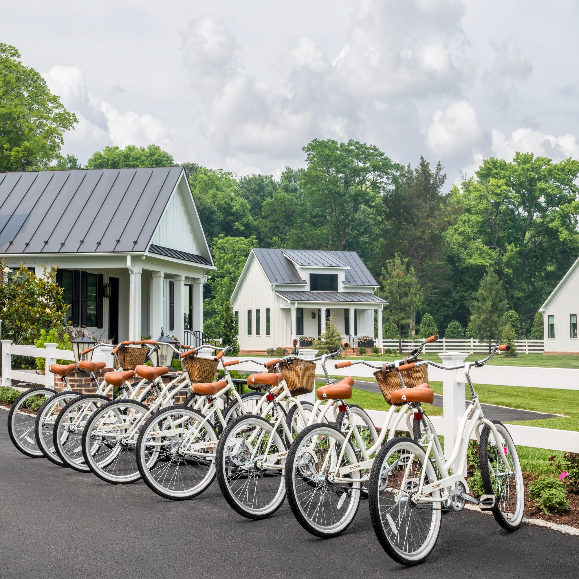
<path fill-rule="evenodd" d="M 354 251 L 253 249 L 231 298 L 240 349 L 265 353 L 290 347 L 295 338 L 316 338 L 330 317 L 353 345 L 364 335 L 381 347 L 386 302 L 374 294 L 377 288 Z"/>

